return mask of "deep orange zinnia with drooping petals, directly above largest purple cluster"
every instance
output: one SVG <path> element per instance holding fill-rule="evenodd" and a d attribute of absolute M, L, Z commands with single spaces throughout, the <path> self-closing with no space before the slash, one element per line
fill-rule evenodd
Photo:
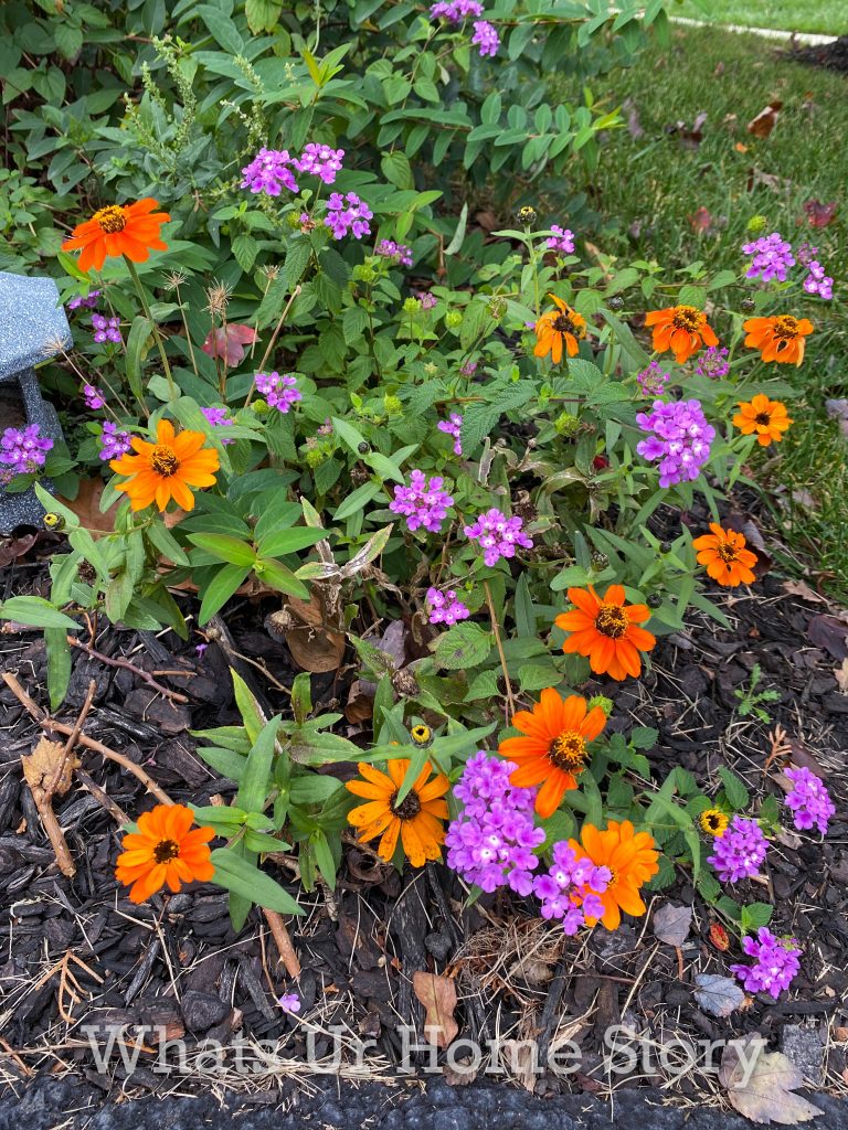
<path fill-rule="evenodd" d="M 586 768 L 587 742 L 594 741 L 606 725 L 606 714 L 595 706 L 587 714 L 586 699 L 579 695 L 561 698 L 548 687 L 542 692 L 533 713 L 522 710 L 512 724 L 525 737 L 505 738 L 499 753 L 518 764 L 510 784 L 536 785 L 536 811 L 543 819 L 560 807 Z"/>

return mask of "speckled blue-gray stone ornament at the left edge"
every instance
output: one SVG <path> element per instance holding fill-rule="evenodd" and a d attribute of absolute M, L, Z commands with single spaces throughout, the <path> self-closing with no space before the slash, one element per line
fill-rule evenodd
<path fill-rule="evenodd" d="M 35 366 L 71 345 L 59 288 L 51 278 L 0 271 L 0 434 L 37 424 L 41 435 L 62 438 L 55 409 L 41 394 Z M 44 484 L 50 488 L 50 484 Z M 41 525 L 44 507 L 29 489 L 0 487 L 0 534 L 18 525 Z"/>

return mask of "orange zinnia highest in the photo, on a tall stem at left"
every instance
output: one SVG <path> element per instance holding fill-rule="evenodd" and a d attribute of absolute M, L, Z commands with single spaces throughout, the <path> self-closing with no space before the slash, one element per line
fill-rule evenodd
<path fill-rule="evenodd" d="M 73 234 L 62 244 L 62 251 L 79 251 L 79 269 L 99 270 L 106 258 L 126 255 L 133 263 L 144 263 L 152 251 L 167 251 L 159 228 L 171 219 L 167 212 L 157 212 L 157 200 L 146 197 L 135 205 L 110 205 L 101 208 L 90 219 L 77 224 Z"/>

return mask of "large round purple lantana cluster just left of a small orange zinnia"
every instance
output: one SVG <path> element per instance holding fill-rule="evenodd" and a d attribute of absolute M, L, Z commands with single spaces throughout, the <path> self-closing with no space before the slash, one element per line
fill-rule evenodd
<path fill-rule="evenodd" d="M 700 400 L 654 401 L 654 410 L 639 412 L 637 423 L 652 432 L 637 444 L 649 462 L 659 460 L 659 485 L 670 487 L 696 479 L 710 458 L 716 429 L 707 423 Z"/>

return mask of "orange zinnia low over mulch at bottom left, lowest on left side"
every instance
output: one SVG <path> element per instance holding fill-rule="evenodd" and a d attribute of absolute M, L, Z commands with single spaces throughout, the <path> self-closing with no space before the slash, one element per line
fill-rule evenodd
<path fill-rule="evenodd" d="M 215 832 L 189 832 L 193 823 L 194 814 L 184 805 L 157 805 L 139 816 L 138 832 L 123 837 L 115 868 L 119 883 L 132 884 L 133 903 L 144 903 L 165 884 L 176 892 L 183 883 L 206 883 L 215 875 L 208 847 Z"/>

